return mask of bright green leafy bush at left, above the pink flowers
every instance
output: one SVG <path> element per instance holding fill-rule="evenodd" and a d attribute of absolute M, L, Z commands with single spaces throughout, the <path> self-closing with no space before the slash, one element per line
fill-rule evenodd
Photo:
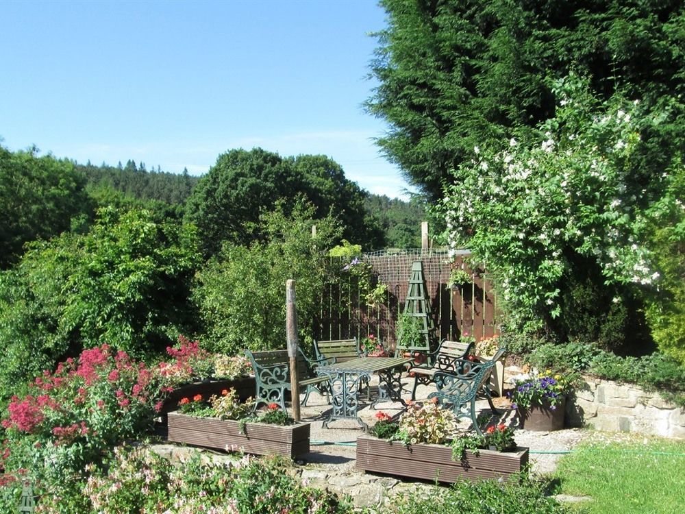
<path fill-rule="evenodd" d="M 86 235 L 32 245 L 0 274 L 0 395 L 102 341 L 136 356 L 169 345 L 194 323 L 198 265 L 193 228 L 146 211 L 105 209 Z"/>

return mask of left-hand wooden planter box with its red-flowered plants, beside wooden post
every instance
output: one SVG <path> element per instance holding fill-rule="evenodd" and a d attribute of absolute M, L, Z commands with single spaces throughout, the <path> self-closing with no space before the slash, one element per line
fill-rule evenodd
<path fill-rule="evenodd" d="M 201 394 L 179 400 L 169 413 L 167 439 L 206 448 L 295 458 L 309 452 L 310 425 L 296 423 L 278 404 L 253 411 L 253 400 L 240 402 L 234 389 L 208 399 Z"/>

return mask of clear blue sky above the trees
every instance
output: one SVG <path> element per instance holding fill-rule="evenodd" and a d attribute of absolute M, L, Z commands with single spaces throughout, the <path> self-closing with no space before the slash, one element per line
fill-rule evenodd
<path fill-rule="evenodd" d="M 324 154 L 408 187 L 363 112 L 375 0 L 0 0 L 0 137 L 11 150 L 199 175 L 234 148 Z"/>

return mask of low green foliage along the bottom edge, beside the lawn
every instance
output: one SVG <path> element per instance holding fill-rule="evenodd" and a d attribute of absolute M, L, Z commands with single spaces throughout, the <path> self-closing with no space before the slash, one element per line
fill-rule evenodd
<path fill-rule="evenodd" d="M 434 487 L 427 495 L 397 498 L 382 511 L 395 514 L 570 514 L 569 507 L 549 498 L 545 484 L 527 474 L 510 480 L 463 480 L 449 488 Z"/>

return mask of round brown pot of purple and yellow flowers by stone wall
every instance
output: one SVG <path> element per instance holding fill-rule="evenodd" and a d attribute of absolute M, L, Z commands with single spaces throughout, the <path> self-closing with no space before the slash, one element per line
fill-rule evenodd
<path fill-rule="evenodd" d="M 549 369 L 516 380 L 508 397 L 518 412 L 520 426 L 545 431 L 564 428 L 566 395 L 573 391 L 576 381 L 576 374 L 552 374 Z"/>

